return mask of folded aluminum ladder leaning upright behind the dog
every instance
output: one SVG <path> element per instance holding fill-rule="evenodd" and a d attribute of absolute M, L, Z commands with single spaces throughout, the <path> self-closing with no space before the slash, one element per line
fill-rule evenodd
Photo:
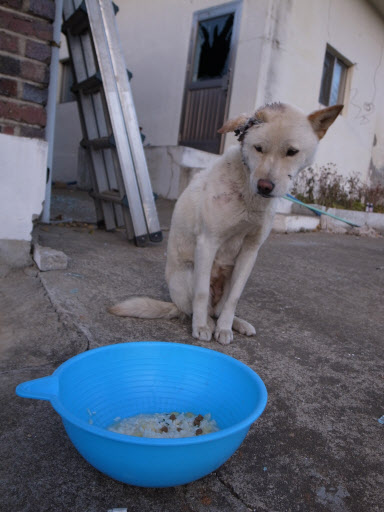
<path fill-rule="evenodd" d="M 161 242 L 152 186 L 111 0 L 64 0 L 66 35 L 98 222 L 137 246 Z"/>

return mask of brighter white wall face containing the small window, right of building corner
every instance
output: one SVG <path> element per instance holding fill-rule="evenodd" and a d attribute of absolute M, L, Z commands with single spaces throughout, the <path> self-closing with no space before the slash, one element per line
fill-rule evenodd
<path fill-rule="evenodd" d="M 374 137 L 384 117 L 384 20 L 362 0 L 281 0 L 275 18 L 265 100 L 288 101 L 310 112 L 321 108 L 320 82 L 327 43 L 353 66 L 345 108 L 319 145 L 316 163 L 336 164 L 343 175 L 369 175 Z"/>

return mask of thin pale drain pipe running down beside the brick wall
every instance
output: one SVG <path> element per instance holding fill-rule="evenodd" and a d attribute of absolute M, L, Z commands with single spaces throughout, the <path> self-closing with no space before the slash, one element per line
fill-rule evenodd
<path fill-rule="evenodd" d="M 49 86 L 47 101 L 47 125 L 46 138 L 48 142 L 47 157 L 47 184 L 45 188 L 45 200 L 41 221 L 49 224 L 51 217 L 51 189 L 52 189 L 52 161 L 53 144 L 55 140 L 55 119 L 56 119 L 56 100 L 57 100 L 57 82 L 59 78 L 59 52 L 61 24 L 63 17 L 63 0 L 55 1 L 55 21 L 53 22 L 52 53 L 51 65 L 49 70 Z"/>

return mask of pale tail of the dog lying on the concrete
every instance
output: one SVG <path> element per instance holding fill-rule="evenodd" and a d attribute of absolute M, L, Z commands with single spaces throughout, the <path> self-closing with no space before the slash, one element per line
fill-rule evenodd
<path fill-rule="evenodd" d="M 130 297 L 124 302 L 108 308 L 108 312 L 117 316 L 135 318 L 183 318 L 185 315 L 173 302 L 150 299 L 149 297 Z"/>

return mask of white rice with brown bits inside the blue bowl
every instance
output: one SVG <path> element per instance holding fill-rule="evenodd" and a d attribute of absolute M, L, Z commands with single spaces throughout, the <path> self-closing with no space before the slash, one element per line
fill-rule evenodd
<path fill-rule="evenodd" d="M 116 418 L 107 430 L 136 437 L 180 438 L 210 434 L 219 427 L 210 414 L 170 412 Z"/>

